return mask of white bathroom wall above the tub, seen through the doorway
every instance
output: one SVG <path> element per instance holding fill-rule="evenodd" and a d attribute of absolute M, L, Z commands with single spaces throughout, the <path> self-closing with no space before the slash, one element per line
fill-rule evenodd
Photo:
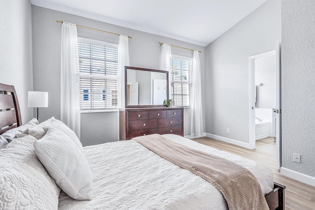
<path fill-rule="evenodd" d="M 276 55 L 255 59 L 255 84 L 255 107 L 276 108 Z"/>

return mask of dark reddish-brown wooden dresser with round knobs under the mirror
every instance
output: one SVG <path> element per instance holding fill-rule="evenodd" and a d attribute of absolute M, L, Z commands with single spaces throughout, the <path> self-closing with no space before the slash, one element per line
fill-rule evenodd
<path fill-rule="evenodd" d="M 126 108 L 119 115 L 120 140 L 153 133 L 184 136 L 183 107 Z"/>

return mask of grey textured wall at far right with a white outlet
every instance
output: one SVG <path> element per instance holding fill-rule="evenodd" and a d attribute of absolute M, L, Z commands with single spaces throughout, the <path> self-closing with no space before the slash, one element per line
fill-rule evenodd
<path fill-rule="evenodd" d="M 282 166 L 315 177 L 315 1 L 282 1 Z M 293 162 L 301 154 L 301 163 Z"/>

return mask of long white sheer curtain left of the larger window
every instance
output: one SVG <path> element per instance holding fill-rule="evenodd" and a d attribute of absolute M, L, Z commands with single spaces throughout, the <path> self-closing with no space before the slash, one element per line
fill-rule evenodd
<path fill-rule="evenodd" d="M 61 121 L 80 139 L 80 101 L 76 74 L 79 74 L 78 36 L 75 24 L 63 22 L 61 40 Z"/>

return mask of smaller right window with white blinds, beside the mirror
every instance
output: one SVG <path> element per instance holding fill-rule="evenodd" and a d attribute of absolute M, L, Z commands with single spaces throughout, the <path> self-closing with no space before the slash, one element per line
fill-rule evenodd
<path fill-rule="evenodd" d="M 170 66 L 169 79 L 174 105 L 190 106 L 192 58 L 172 55 Z"/>

